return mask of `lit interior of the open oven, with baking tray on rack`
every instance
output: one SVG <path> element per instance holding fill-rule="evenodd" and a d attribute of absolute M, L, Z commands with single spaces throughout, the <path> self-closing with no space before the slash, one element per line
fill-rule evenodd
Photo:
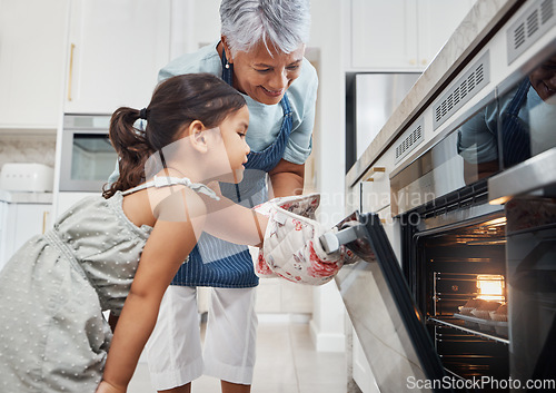
<path fill-rule="evenodd" d="M 451 375 L 502 381 L 509 376 L 506 219 L 476 220 L 416 237 L 416 297 Z"/>

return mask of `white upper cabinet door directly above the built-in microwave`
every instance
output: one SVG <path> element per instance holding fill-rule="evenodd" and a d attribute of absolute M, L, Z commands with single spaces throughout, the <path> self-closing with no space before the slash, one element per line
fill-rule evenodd
<path fill-rule="evenodd" d="M 64 111 L 146 107 L 169 61 L 171 0 L 75 0 Z"/>

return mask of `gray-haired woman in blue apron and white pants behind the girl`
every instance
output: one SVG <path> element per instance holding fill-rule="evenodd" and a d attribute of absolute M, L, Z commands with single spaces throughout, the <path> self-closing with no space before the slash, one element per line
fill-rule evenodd
<path fill-rule="evenodd" d="M 210 72 L 245 95 L 251 153 L 245 179 L 220 184 L 224 195 L 252 207 L 267 200 L 269 190 L 271 197 L 301 194 L 318 85 L 304 58 L 309 0 L 222 0 L 220 18 L 218 41 L 171 61 L 159 78 Z M 167 289 L 149 341 L 158 391 L 190 392 L 191 381 L 203 373 L 220 379 L 224 393 L 250 391 L 257 285 L 247 247 L 202 234 Z M 202 355 L 198 286 L 212 287 Z"/>

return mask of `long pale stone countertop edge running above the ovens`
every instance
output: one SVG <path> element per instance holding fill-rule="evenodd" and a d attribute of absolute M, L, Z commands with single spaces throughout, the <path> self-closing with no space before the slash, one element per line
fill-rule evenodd
<path fill-rule="evenodd" d="M 518 0 L 477 0 L 443 49 L 419 77 L 380 132 L 346 175 L 351 187 L 380 155 L 400 136 L 418 114 L 440 92 L 489 31 Z"/>

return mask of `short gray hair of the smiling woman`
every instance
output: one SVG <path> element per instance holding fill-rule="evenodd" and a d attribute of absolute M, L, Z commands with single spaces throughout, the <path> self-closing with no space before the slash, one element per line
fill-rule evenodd
<path fill-rule="evenodd" d="M 290 53 L 309 40 L 309 0 L 222 0 L 220 22 L 232 56 L 259 42 Z"/>

